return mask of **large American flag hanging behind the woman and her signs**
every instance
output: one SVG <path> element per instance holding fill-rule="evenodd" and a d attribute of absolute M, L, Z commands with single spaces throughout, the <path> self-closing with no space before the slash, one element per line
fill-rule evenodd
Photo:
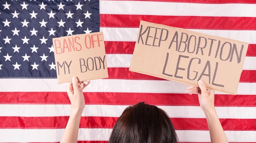
<path fill-rule="evenodd" d="M 216 92 L 231 143 L 256 143 L 255 0 L 0 0 L 0 143 L 57 143 L 71 106 L 57 84 L 52 38 L 102 31 L 109 78 L 85 88 L 80 143 L 107 143 L 124 109 L 145 101 L 170 116 L 181 143 L 209 143 L 196 94 L 129 72 L 139 21 L 249 43 L 238 95 Z"/>

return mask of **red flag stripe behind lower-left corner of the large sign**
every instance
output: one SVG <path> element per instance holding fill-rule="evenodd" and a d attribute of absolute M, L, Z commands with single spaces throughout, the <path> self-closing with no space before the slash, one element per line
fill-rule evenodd
<path fill-rule="evenodd" d="M 130 72 L 129 68 L 108 68 L 109 79 L 164 80 L 146 74 Z M 243 70 L 239 82 L 256 82 L 256 70 Z"/>

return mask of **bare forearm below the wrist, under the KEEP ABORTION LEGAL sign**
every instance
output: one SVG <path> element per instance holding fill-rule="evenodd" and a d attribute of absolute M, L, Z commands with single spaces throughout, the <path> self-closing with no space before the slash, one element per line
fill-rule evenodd
<path fill-rule="evenodd" d="M 215 109 L 205 112 L 209 127 L 211 143 L 228 143 L 225 132 L 220 124 L 220 120 Z"/>

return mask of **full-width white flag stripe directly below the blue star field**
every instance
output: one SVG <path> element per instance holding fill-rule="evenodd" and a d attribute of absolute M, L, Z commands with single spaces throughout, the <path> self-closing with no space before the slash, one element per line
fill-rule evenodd
<path fill-rule="evenodd" d="M 66 92 L 66 83 L 56 78 L 2 78 L 0 92 Z M 26 86 L 20 86 L 26 85 Z M 156 87 L 157 86 L 157 87 Z M 92 80 L 85 92 L 187 93 L 188 85 L 169 80 Z M 225 94 L 216 92 L 216 94 Z M 238 95 L 256 95 L 256 82 L 238 84 Z"/>

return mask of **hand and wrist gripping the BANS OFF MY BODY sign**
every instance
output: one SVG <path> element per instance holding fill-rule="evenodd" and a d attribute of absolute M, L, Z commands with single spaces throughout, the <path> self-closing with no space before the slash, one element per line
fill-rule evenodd
<path fill-rule="evenodd" d="M 72 82 L 67 85 L 67 95 L 72 105 L 72 111 L 83 112 L 85 100 L 83 89 L 90 84 L 90 81 L 78 82 L 76 77 L 72 78 Z"/>

